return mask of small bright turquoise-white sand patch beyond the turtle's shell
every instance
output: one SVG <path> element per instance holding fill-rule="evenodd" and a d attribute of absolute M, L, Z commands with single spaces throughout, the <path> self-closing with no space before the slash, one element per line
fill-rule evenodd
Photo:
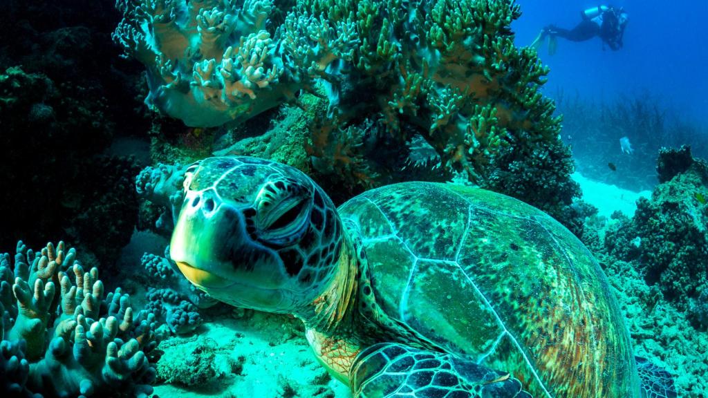
<path fill-rule="evenodd" d="M 629 191 L 612 184 L 590 180 L 580 173 L 573 173 L 571 178 L 580 184 L 583 200 L 598 207 L 600 215 L 605 217 L 610 217 L 615 210 L 632 217 L 636 211 L 636 200 L 651 198 L 651 191 Z"/>

